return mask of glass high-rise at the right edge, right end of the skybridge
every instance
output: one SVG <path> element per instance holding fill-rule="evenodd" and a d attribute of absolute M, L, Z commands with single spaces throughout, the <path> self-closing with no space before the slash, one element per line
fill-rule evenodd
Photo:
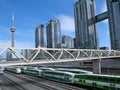
<path fill-rule="evenodd" d="M 120 50 L 120 0 L 107 0 L 111 49 Z"/>

